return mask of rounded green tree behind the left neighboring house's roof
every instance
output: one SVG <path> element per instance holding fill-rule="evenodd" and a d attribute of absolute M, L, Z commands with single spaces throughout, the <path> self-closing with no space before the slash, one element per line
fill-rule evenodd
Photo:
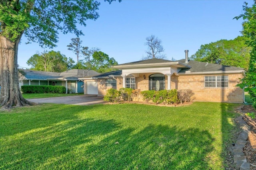
<path fill-rule="evenodd" d="M 32 66 L 32 70 L 63 72 L 67 70 L 67 57 L 60 51 L 44 51 L 37 53 L 28 59 L 27 64 Z"/>

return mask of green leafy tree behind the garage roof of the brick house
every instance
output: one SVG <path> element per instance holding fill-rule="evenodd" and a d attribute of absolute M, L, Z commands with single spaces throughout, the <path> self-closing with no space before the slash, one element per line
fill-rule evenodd
<path fill-rule="evenodd" d="M 86 57 L 86 60 L 86 68 L 97 72 L 109 72 L 113 70 L 110 66 L 118 64 L 114 58 L 109 58 L 102 51 L 94 51 L 92 57 Z"/>

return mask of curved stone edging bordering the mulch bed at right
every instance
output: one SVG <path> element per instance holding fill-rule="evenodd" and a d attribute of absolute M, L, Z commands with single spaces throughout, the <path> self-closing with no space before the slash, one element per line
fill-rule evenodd
<path fill-rule="evenodd" d="M 236 121 L 239 123 L 242 132 L 238 136 L 235 146 L 232 147 L 234 163 L 236 164 L 236 170 L 250 170 L 250 163 L 247 162 L 246 156 L 243 152 L 243 148 L 248 140 L 250 128 L 248 127 L 246 121 L 244 121 L 243 116 L 237 117 Z"/>

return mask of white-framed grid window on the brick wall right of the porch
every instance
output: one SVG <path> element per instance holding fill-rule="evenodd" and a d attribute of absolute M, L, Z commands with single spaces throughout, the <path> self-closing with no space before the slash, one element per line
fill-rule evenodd
<path fill-rule="evenodd" d="M 228 76 L 204 76 L 204 87 L 228 87 Z"/>

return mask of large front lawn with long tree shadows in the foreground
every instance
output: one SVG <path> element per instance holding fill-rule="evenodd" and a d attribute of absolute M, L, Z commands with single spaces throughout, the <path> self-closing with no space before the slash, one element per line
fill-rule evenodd
<path fill-rule="evenodd" d="M 223 169 L 237 106 L 43 104 L 0 111 L 0 169 Z"/>

